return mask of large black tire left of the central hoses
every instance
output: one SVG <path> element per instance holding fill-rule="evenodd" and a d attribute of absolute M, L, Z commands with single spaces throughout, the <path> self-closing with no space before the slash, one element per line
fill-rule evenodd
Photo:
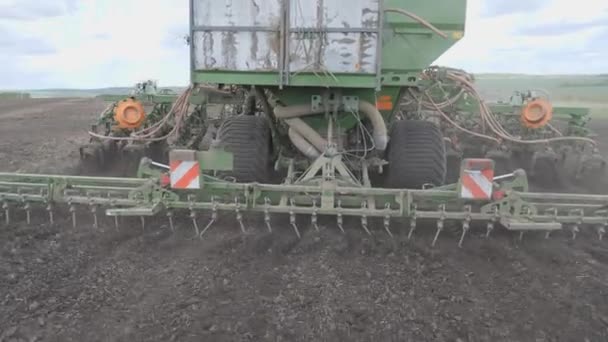
<path fill-rule="evenodd" d="M 227 119 L 218 139 L 234 156 L 233 170 L 227 173 L 239 183 L 269 181 L 272 162 L 271 133 L 263 117 L 240 115 Z"/>

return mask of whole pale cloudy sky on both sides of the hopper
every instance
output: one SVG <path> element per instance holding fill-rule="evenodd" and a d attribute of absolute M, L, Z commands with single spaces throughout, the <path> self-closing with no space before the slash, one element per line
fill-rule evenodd
<path fill-rule="evenodd" d="M 145 79 L 185 85 L 187 3 L 0 0 L 0 89 Z M 608 1 L 469 0 L 465 38 L 436 64 L 475 73 L 608 73 Z"/>

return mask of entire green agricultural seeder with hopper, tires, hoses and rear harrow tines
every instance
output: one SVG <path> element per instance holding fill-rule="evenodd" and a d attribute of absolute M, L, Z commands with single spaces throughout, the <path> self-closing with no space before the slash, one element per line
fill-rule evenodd
<path fill-rule="evenodd" d="M 329 217 L 342 232 L 430 227 L 433 244 L 453 224 L 460 245 L 478 226 L 602 239 L 607 195 L 528 184 L 572 158 L 571 179 L 603 177 L 587 110 L 535 91 L 488 104 L 471 75 L 429 67 L 465 13 L 465 0 L 191 0 L 191 85 L 107 97 L 83 175 L 0 174 L 6 223 L 40 208 L 51 222 L 67 208 L 74 226 L 185 216 L 202 237 L 221 213 L 245 232 L 255 212 L 298 237 Z"/>

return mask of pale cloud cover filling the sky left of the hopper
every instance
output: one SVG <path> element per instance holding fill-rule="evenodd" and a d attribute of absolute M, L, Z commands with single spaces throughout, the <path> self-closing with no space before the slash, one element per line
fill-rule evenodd
<path fill-rule="evenodd" d="M 22 6 L 19 1 L 15 8 L 23 12 L 35 2 L 24 1 Z M 44 11 L 46 17 L 0 18 L 0 27 L 22 32 L 21 37 L 0 38 L 7 41 L 7 50 L 22 56 L 47 52 L 20 58 L 19 68 L 12 62 L 0 65 L 0 75 L 11 68 L 24 72 L 32 86 L 37 86 L 36 78 L 44 77 L 56 81 L 53 87 L 74 88 L 128 86 L 148 78 L 161 85 L 188 83 L 189 50 L 183 40 L 188 33 L 187 1 L 179 5 L 167 0 L 57 2 L 62 5 Z M 0 77 L 0 88 L 17 87 L 12 80 Z"/>

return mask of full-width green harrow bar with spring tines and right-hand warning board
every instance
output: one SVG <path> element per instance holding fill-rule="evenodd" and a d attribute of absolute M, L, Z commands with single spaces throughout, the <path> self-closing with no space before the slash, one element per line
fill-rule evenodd
<path fill-rule="evenodd" d="M 149 162 L 149 161 L 148 161 Z M 142 163 L 144 165 L 144 163 Z M 149 164 L 148 164 L 149 166 Z M 289 229 L 301 237 L 299 225 L 319 230 L 319 219 L 330 216 L 346 232 L 345 218 L 360 219 L 367 234 L 376 234 L 370 222 L 383 222 L 379 231 L 413 237 L 418 229 L 435 231 L 433 246 L 450 225 L 461 229 L 459 246 L 472 227 L 526 232 L 568 231 L 572 238 L 585 230 L 602 240 L 608 229 L 608 196 L 528 191 L 526 175 L 494 177 L 489 160 L 463 162 L 459 183 L 423 190 L 395 190 L 364 186 L 343 186 L 329 178 L 294 184 L 239 184 L 199 174 L 197 189 L 174 189 L 167 173 L 140 173 L 142 178 L 102 178 L 0 173 L 0 205 L 7 225 L 16 217 L 32 220 L 34 211 L 46 211 L 49 223 L 55 213 L 67 212 L 76 227 L 79 215 L 91 215 L 98 226 L 100 215 L 120 217 L 164 217 L 176 228 L 176 218 L 192 221 L 197 236 L 203 237 L 217 223 L 220 213 L 232 213 L 241 230 L 247 213 L 263 215 L 273 231 L 273 219 L 289 218 Z M 17 211 L 25 215 L 16 215 Z M 208 222 L 199 224 L 203 214 Z M 273 216 L 275 216 L 273 218 Z M 306 217 L 306 219 L 304 219 Z M 372 221 L 372 219 L 374 219 Z M 349 221 L 351 222 L 351 221 Z"/>

